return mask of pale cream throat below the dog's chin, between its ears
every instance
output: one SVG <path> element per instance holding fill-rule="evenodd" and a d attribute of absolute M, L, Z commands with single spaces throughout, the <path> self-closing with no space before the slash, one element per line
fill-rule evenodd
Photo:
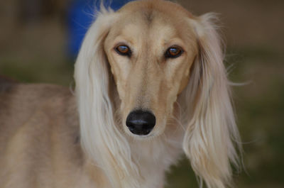
<path fill-rule="evenodd" d="M 131 151 L 141 176 L 146 179 L 143 187 L 163 187 L 165 171 L 178 161 L 182 153 L 182 129 L 166 130 L 165 135 L 153 140 L 133 140 Z M 137 149 L 138 148 L 138 149 Z"/>

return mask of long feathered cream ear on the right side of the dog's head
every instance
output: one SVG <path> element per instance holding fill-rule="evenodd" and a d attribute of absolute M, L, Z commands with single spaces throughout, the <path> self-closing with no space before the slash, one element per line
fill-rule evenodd
<path fill-rule="evenodd" d="M 184 91 L 186 111 L 191 115 L 186 121 L 183 149 L 192 169 L 207 187 L 224 188 L 231 182 L 230 162 L 236 166 L 239 163 L 234 147 L 239 145 L 239 132 L 223 65 L 222 41 L 214 19 L 211 13 L 190 19 L 190 26 L 197 35 L 199 54 Z M 202 182 L 200 184 L 202 187 Z"/>

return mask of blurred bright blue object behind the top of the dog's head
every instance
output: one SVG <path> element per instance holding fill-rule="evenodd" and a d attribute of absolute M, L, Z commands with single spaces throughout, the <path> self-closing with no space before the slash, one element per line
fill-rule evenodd
<path fill-rule="evenodd" d="M 104 1 L 111 9 L 117 11 L 129 1 L 112 0 L 111 3 Z M 76 57 L 87 29 L 94 21 L 94 10 L 99 10 L 100 1 L 97 0 L 73 0 L 68 10 L 68 54 Z"/>

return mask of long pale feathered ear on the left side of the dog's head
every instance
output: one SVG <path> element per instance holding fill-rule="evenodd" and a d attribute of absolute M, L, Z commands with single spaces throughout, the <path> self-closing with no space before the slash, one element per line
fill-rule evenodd
<path fill-rule="evenodd" d="M 115 109 L 109 99 L 112 80 L 104 52 L 104 39 L 119 15 L 103 7 L 101 11 L 87 32 L 75 63 L 80 140 L 84 152 L 102 168 L 112 187 L 133 188 L 138 187 L 140 176 L 131 160 L 129 143 L 114 123 Z"/>

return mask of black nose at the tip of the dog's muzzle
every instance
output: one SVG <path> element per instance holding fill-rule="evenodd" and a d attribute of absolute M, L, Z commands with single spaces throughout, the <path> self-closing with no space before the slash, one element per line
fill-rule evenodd
<path fill-rule="evenodd" d="M 155 116 L 150 111 L 132 111 L 126 118 L 126 126 L 133 134 L 148 135 L 155 126 Z"/>

